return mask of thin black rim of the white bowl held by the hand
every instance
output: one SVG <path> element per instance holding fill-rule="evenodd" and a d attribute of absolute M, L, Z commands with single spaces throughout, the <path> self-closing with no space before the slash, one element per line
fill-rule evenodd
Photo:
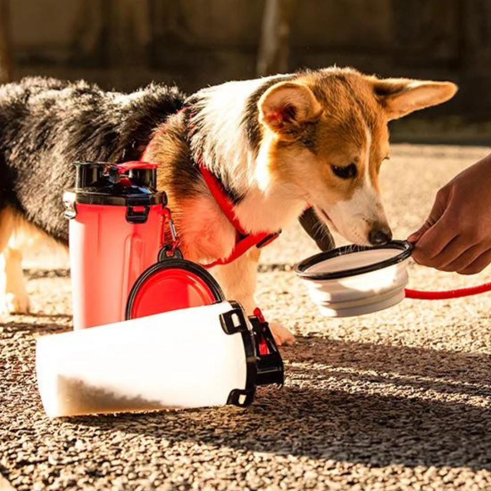
<path fill-rule="evenodd" d="M 359 266 L 358 268 L 351 268 L 347 270 L 341 271 L 333 271 L 333 272 L 321 272 L 321 273 L 312 273 L 306 271 L 308 268 L 322 263 L 323 261 L 327 261 L 327 259 L 332 259 L 334 257 L 344 256 L 347 254 L 354 254 L 355 252 L 363 252 L 366 250 L 375 250 L 375 249 L 399 249 L 401 250 L 400 254 L 395 255 L 394 257 L 390 257 L 388 259 L 384 259 L 383 261 L 377 261 L 372 264 L 368 264 L 366 266 Z M 349 276 L 356 276 L 358 274 L 371 273 L 373 271 L 380 270 L 382 268 L 387 268 L 389 266 L 393 266 L 394 264 L 399 264 L 408 259 L 408 257 L 412 254 L 414 246 L 410 244 L 408 241 L 391 241 L 387 242 L 387 244 L 383 244 L 382 246 L 341 246 L 336 247 L 335 249 L 331 249 L 329 251 L 320 252 L 318 254 L 314 254 L 313 256 L 307 257 L 300 263 L 297 263 L 294 267 L 295 273 L 304 279 L 311 280 L 329 280 L 329 279 L 340 279 L 346 278 Z"/>

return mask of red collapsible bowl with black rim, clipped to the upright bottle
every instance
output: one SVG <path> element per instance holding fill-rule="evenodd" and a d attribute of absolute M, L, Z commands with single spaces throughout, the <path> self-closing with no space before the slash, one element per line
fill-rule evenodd
<path fill-rule="evenodd" d="M 126 305 L 126 319 L 223 300 L 217 281 L 201 266 L 185 259 L 166 259 L 136 280 Z"/>

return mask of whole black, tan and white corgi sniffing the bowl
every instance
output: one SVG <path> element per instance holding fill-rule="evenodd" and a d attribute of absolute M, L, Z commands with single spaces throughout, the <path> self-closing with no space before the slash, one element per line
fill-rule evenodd
<path fill-rule="evenodd" d="M 351 68 L 226 82 L 185 97 L 152 84 L 132 94 L 84 82 L 25 79 L 0 87 L 0 252 L 3 308 L 28 310 L 17 229 L 67 244 L 62 192 L 75 160 L 158 164 L 184 257 L 200 264 L 233 255 L 237 223 L 276 232 L 311 206 L 350 242 L 391 239 L 378 186 L 389 156 L 388 121 L 441 104 L 452 82 L 379 79 Z M 203 175 L 226 195 L 236 224 Z M 26 225 L 29 225 L 27 227 Z M 260 251 L 213 267 L 227 298 L 249 313 Z M 272 325 L 280 344 L 293 335 Z"/>

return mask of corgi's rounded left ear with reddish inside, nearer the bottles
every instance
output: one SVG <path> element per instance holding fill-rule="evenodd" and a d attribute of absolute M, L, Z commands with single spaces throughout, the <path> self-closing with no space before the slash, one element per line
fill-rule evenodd
<path fill-rule="evenodd" d="M 280 82 L 259 99 L 259 121 L 279 134 L 291 134 L 302 123 L 317 119 L 322 106 L 305 85 Z"/>

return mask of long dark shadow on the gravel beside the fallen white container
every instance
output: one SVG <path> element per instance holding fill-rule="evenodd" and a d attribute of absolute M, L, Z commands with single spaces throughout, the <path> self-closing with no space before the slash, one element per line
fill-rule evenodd
<path fill-rule="evenodd" d="M 491 469 L 489 356 L 302 338 L 284 357 L 287 385 L 259 389 L 246 410 L 64 422 L 81 432 L 124 432 L 171 444 L 191 440 L 370 466 Z"/>

